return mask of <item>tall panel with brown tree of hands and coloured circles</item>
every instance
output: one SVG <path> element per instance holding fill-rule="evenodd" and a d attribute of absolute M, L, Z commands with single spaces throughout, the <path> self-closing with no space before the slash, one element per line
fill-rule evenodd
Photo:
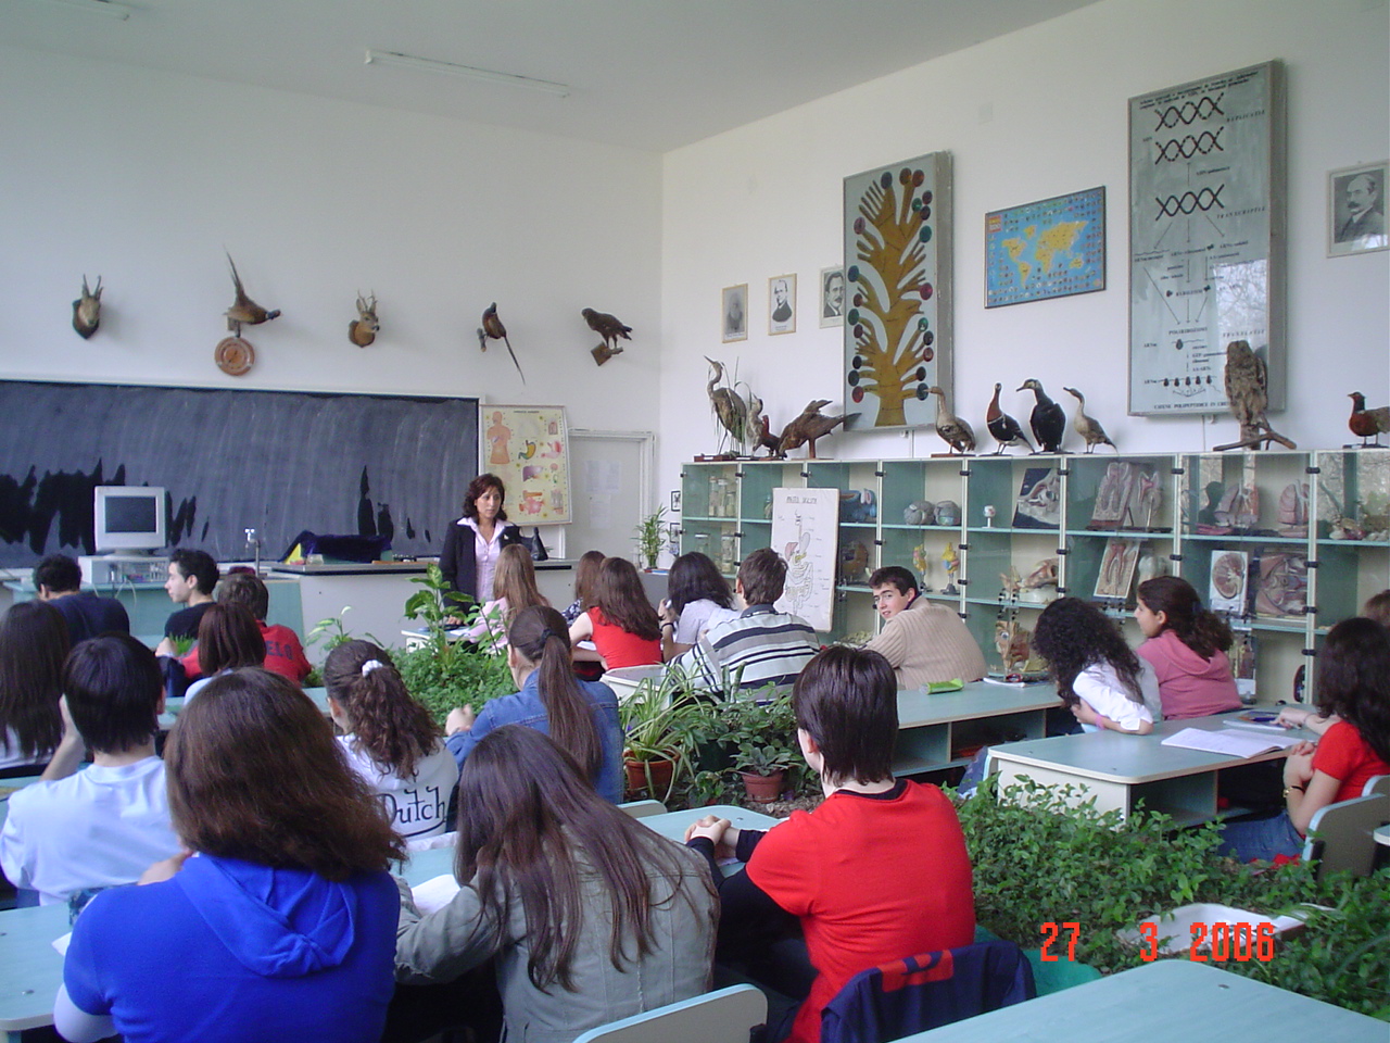
<path fill-rule="evenodd" d="M 951 154 L 845 178 L 845 421 L 923 427 L 951 392 Z"/>

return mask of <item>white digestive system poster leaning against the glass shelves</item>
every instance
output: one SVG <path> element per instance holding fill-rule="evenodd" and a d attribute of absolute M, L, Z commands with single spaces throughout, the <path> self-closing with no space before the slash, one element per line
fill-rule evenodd
<path fill-rule="evenodd" d="M 787 559 L 778 612 L 830 630 L 835 608 L 840 490 L 773 490 L 773 549 Z"/>

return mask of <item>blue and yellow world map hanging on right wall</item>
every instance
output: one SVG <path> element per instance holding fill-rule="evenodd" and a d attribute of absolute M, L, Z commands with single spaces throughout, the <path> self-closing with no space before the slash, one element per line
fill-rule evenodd
<path fill-rule="evenodd" d="M 1105 188 L 984 216 L 984 306 L 1105 289 Z"/>

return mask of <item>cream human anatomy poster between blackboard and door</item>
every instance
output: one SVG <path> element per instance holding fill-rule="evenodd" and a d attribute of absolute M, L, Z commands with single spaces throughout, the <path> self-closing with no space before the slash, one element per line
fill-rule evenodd
<path fill-rule="evenodd" d="M 482 470 L 507 487 L 518 526 L 570 520 L 570 434 L 563 406 L 478 406 Z"/>

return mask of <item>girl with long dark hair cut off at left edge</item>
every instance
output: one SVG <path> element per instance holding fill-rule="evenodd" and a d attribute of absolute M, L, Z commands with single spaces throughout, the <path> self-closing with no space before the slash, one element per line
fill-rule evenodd
<path fill-rule="evenodd" d="M 68 627 L 56 608 L 19 601 L 0 616 L 0 768 L 47 763 L 63 737 Z"/>

